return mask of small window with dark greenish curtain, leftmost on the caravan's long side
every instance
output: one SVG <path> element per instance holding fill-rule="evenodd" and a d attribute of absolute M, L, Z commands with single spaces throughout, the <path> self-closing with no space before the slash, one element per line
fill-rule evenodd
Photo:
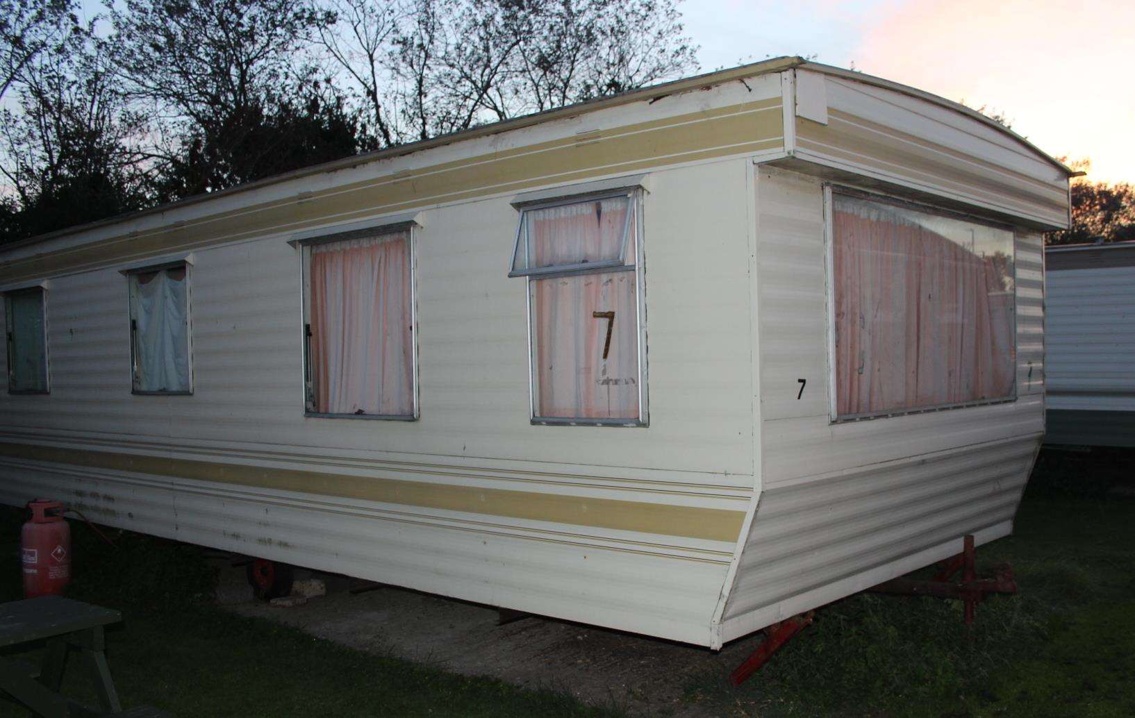
<path fill-rule="evenodd" d="M 43 289 L 34 287 L 5 295 L 8 346 L 8 391 L 48 392 L 48 332 Z"/>

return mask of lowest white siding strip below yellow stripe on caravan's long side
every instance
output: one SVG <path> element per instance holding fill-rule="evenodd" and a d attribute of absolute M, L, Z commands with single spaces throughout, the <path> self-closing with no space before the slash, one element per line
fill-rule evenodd
<path fill-rule="evenodd" d="M 389 506 L 7 464 L 0 499 L 61 497 L 93 521 L 537 615 L 708 640 L 725 574 L 711 554 L 571 540 Z"/>

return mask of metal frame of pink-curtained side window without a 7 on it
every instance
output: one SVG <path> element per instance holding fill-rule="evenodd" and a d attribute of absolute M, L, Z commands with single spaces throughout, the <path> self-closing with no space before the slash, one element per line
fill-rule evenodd
<path fill-rule="evenodd" d="M 300 336 L 303 355 L 303 371 L 301 372 L 301 396 L 303 397 L 304 419 L 352 419 L 367 421 L 418 421 L 421 419 L 421 407 L 419 405 L 419 381 L 418 381 L 418 230 L 420 226 L 414 220 L 394 221 L 373 225 L 347 231 L 330 231 L 316 236 L 305 236 L 302 239 L 294 239 L 291 244 L 299 250 L 300 254 L 300 286 L 302 293 Z M 410 255 L 410 344 L 411 344 L 411 381 L 410 396 L 413 402 L 412 414 L 337 414 L 329 412 L 312 411 L 312 365 L 311 365 L 311 248 L 321 244 L 333 242 L 346 242 L 350 239 L 367 239 L 392 235 L 398 231 L 406 233 L 406 252 Z"/>

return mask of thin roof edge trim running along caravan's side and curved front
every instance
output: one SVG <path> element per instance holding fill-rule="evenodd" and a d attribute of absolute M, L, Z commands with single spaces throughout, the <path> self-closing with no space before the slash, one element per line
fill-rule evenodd
<path fill-rule="evenodd" d="M 159 204 L 152 208 L 146 208 L 144 210 L 138 210 L 136 212 L 128 212 L 126 214 L 117 214 L 115 217 L 108 217 L 106 219 L 96 220 L 93 222 L 87 222 L 85 225 L 75 225 L 74 227 L 67 227 L 56 231 L 47 233 L 43 235 L 36 235 L 34 237 L 28 237 L 26 239 L 18 239 L 16 242 L 9 242 L 0 244 L 0 253 L 15 250 L 18 247 L 25 247 L 32 244 L 39 244 L 41 242 L 47 242 L 50 239 L 56 239 L 59 237 L 66 237 L 70 235 L 81 234 L 89 231 L 91 229 L 96 229 L 100 227 L 107 227 L 109 225 L 116 225 L 119 222 L 129 221 L 133 219 L 138 219 L 142 217 L 149 217 L 151 214 L 159 214 L 161 212 L 168 212 L 170 210 L 180 209 L 184 206 L 191 206 L 199 204 L 201 202 L 207 202 L 215 197 L 224 197 L 242 192 L 250 192 L 253 189 L 259 189 L 261 187 L 280 184 L 289 181 L 293 179 L 299 179 L 301 177 L 308 177 L 311 175 L 319 175 L 322 172 L 333 172 L 342 169 L 350 169 L 358 167 L 360 164 L 365 164 L 368 162 L 373 162 L 378 160 L 402 157 L 405 154 L 412 154 L 414 152 L 420 152 L 422 150 L 429 150 L 431 147 L 437 147 L 442 145 L 452 144 L 454 142 L 461 142 L 464 140 L 473 140 L 477 137 L 485 137 L 488 135 L 495 135 L 503 132 L 508 132 L 512 129 L 520 129 L 523 127 L 530 127 L 532 125 L 538 125 L 541 123 L 553 121 L 557 119 L 563 119 L 568 117 L 574 117 L 577 115 L 583 115 L 587 112 L 595 112 L 598 110 L 604 110 L 612 107 L 617 107 L 621 104 L 630 104 L 632 102 L 639 102 L 642 100 L 657 100 L 670 94 L 679 92 L 688 92 L 690 90 L 698 90 L 701 87 L 708 87 L 712 85 L 718 85 L 722 83 L 745 79 L 748 77 L 756 77 L 758 75 L 766 75 L 770 73 L 779 73 L 792 68 L 804 68 L 809 70 L 815 70 L 823 73 L 825 75 L 833 75 L 838 77 L 843 77 L 854 82 L 866 83 L 869 85 L 875 85 L 883 87 L 885 90 L 891 90 L 894 92 L 900 92 L 908 94 L 927 102 L 933 102 L 934 104 L 961 112 L 976 119 L 985 125 L 1004 133 L 1006 135 L 1012 137 L 1024 146 L 1028 147 L 1032 152 L 1035 152 L 1040 157 L 1044 158 L 1046 161 L 1054 164 L 1060 170 L 1068 174 L 1069 177 L 1075 177 L 1082 175 L 1083 172 L 1076 172 L 1044 151 L 1036 147 L 1034 144 L 1012 132 L 1008 127 L 990 119 L 989 117 L 967 108 L 964 104 L 952 102 L 945 98 L 941 98 L 908 85 L 902 85 L 900 83 L 894 83 L 881 77 L 875 77 L 873 75 L 866 75 L 864 73 L 846 70 L 831 65 L 824 65 L 822 62 L 813 62 L 806 60 L 799 56 L 785 56 L 771 58 L 767 60 L 762 60 L 759 62 L 751 62 L 748 65 L 741 65 L 738 67 L 714 70 L 711 73 L 704 73 L 701 75 L 695 75 L 692 77 L 684 77 L 681 79 L 675 79 L 666 83 L 661 83 L 657 85 L 651 85 L 649 87 L 642 87 L 640 90 L 632 90 L 630 92 L 624 92 L 622 94 L 612 95 L 609 98 L 597 98 L 595 100 L 587 100 L 583 102 L 577 102 L 575 104 L 569 104 L 562 108 L 556 108 L 552 110 L 545 110 L 543 112 L 535 112 L 532 115 L 524 115 L 522 117 L 516 117 L 513 119 L 501 120 L 497 123 L 491 123 L 488 125 L 481 125 L 478 127 L 472 127 L 470 129 L 463 129 L 461 132 L 451 133 L 447 135 L 439 135 L 437 137 L 430 137 L 428 140 L 420 140 L 418 142 L 411 142 L 407 144 L 395 145 L 392 147 L 385 147 L 382 150 L 375 150 L 372 152 L 364 152 L 361 154 L 353 154 L 338 160 L 330 160 L 328 162 L 321 162 L 319 164 L 311 164 L 309 167 L 302 167 L 300 169 L 291 170 L 288 172 L 283 172 L 279 175 L 272 175 L 271 177 L 264 177 L 263 179 L 258 179 L 255 181 L 245 183 L 242 185 L 236 185 L 228 187 L 226 189 L 220 189 L 212 193 L 193 195 L 184 200 L 177 200 L 176 202 L 167 202 L 165 204 Z"/>

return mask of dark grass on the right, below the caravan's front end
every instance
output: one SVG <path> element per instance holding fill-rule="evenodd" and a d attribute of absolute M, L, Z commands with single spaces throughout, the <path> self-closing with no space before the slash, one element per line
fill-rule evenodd
<path fill-rule="evenodd" d="M 754 716 L 1135 716 L 1135 501 L 1034 479 L 1014 535 L 977 552 L 978 569 L 1010 561 L 1019 592 L 978 605 L 970 630 L 960 602 L 861 593 L 817 611 L 740 690 L 706 675 L 688 700 Z"/>

